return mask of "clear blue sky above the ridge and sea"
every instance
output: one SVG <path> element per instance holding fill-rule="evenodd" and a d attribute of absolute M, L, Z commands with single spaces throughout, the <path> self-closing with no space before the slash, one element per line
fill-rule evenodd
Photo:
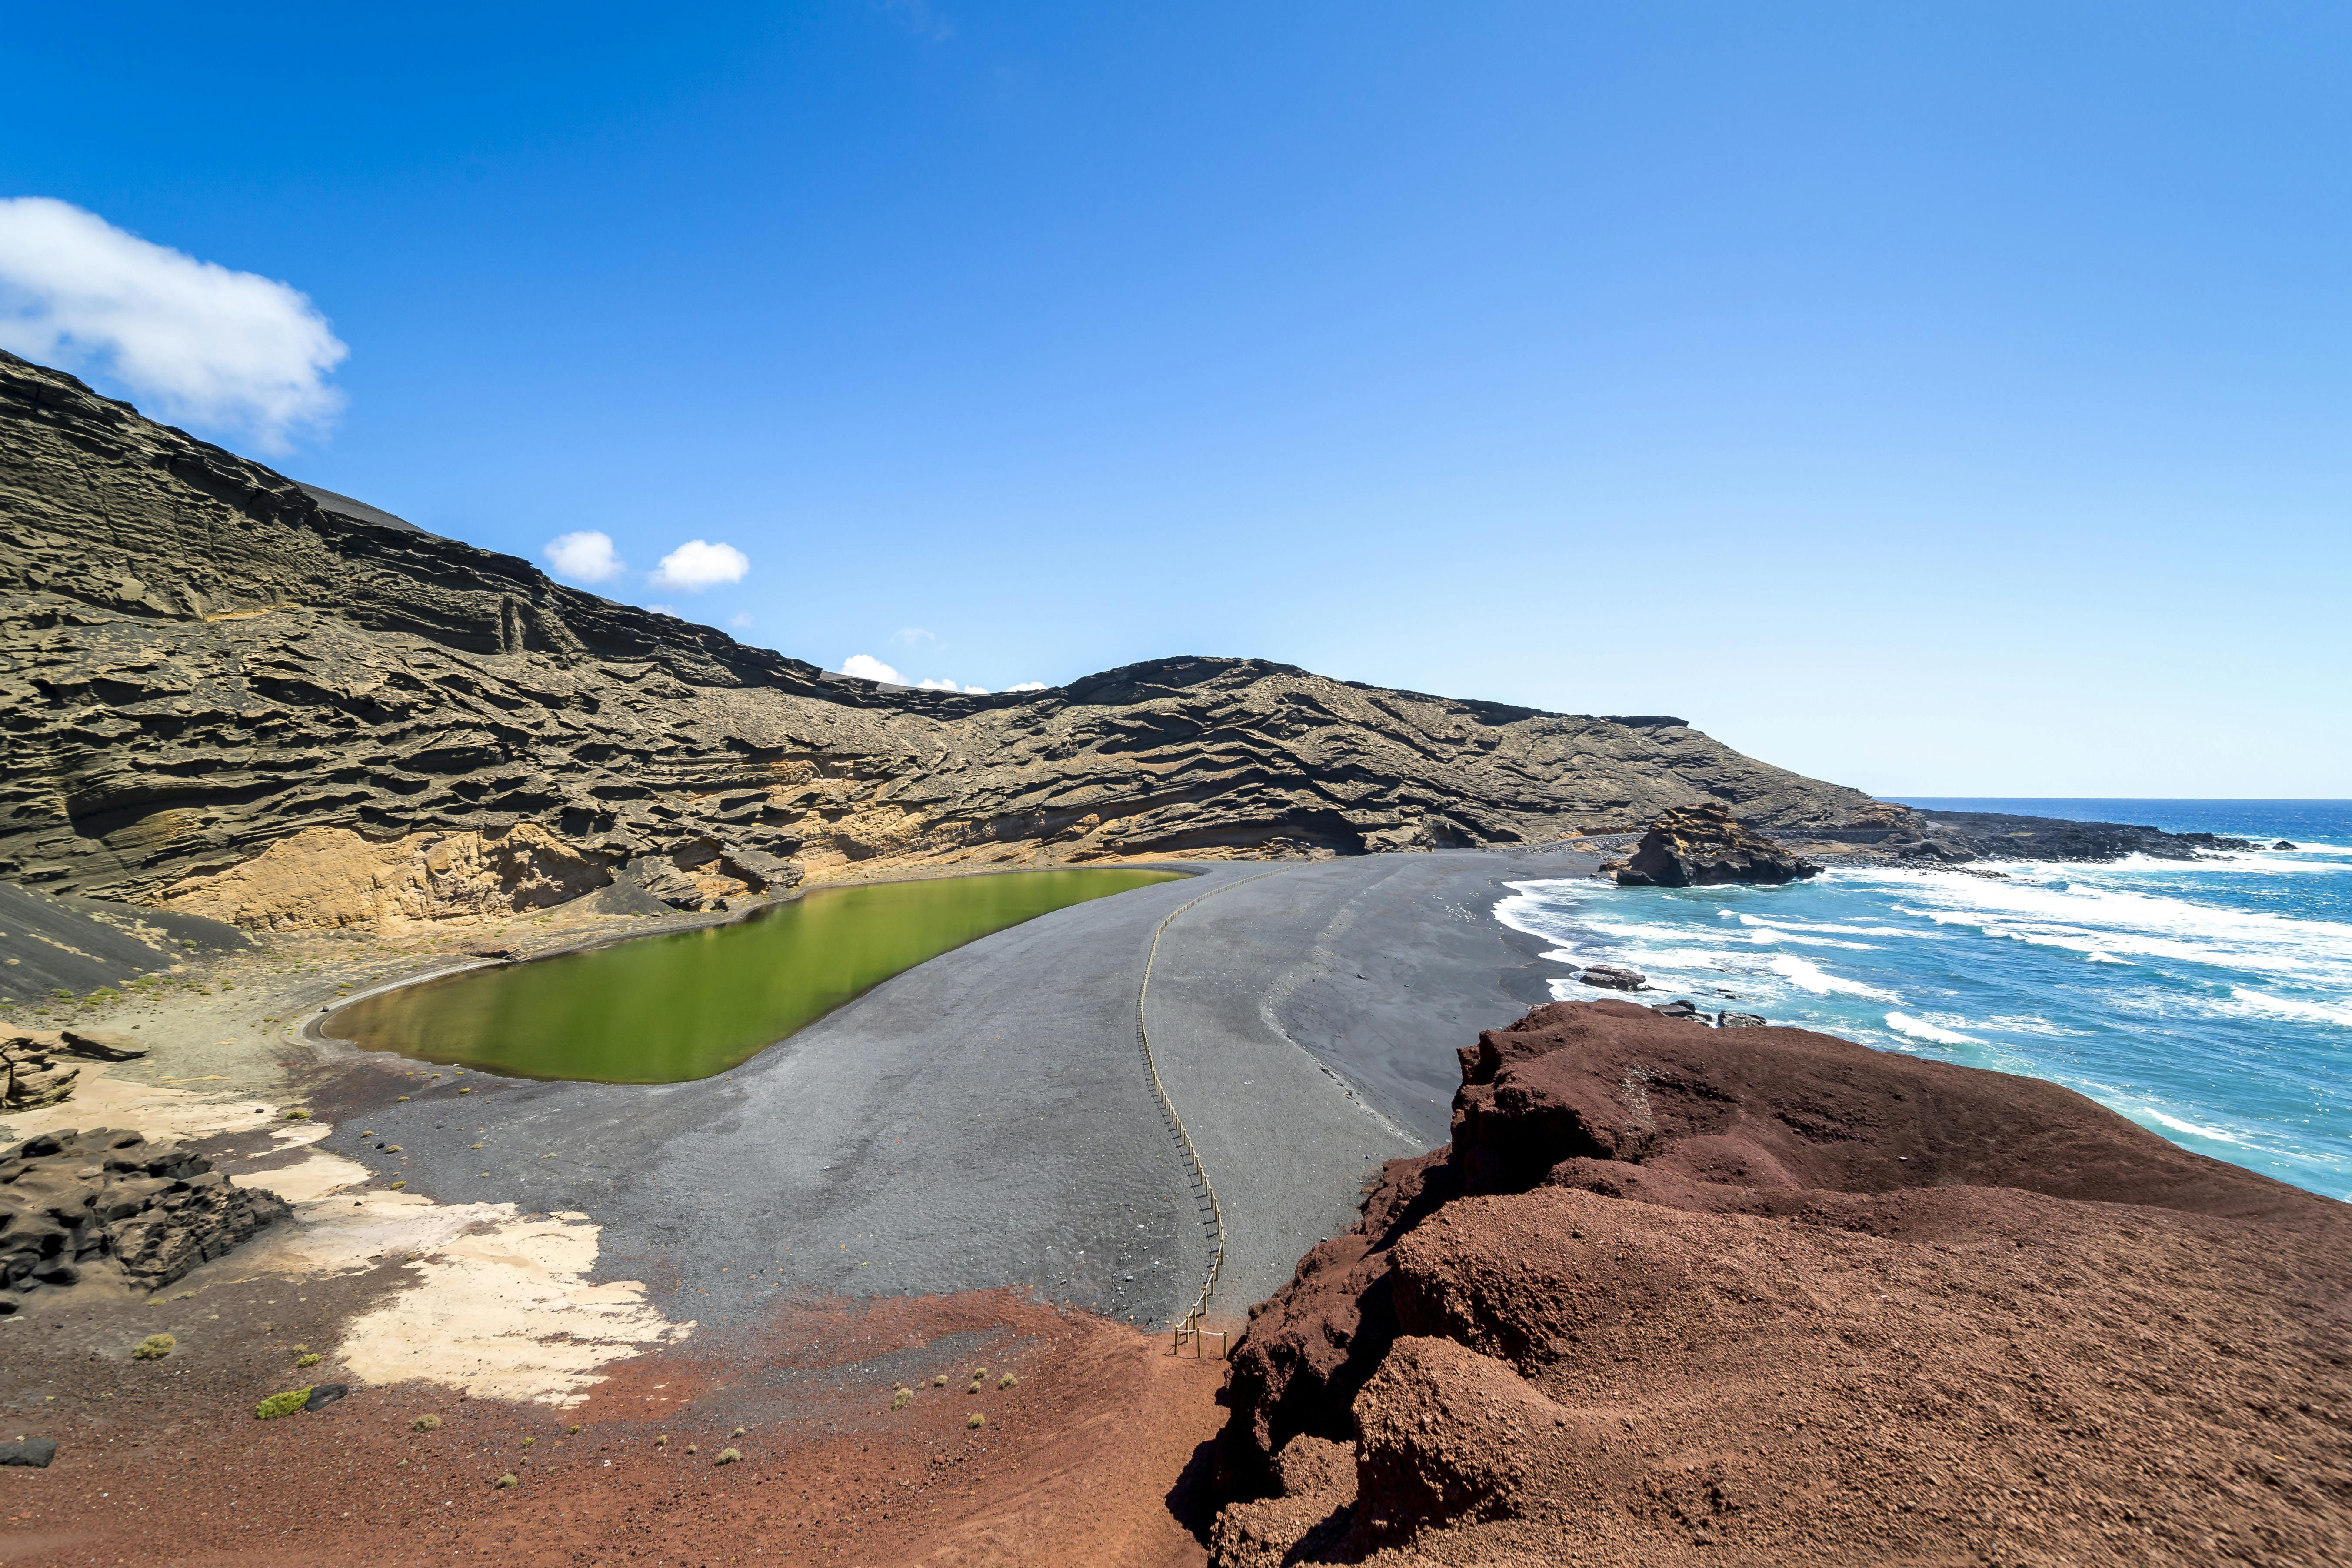
<path fill-rule="evenodd" d="M 332 322 L 181 421 L 296 477 L 830 668 L 2352 795 L 2343 7 L 355 9 L 0 45 L 0 195 Z"/>

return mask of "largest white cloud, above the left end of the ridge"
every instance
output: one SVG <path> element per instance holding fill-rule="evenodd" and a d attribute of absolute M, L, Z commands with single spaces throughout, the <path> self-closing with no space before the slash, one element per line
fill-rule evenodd
<path fill-rule="evenodd" d="M 350 353 L 292 284 L 198 261 L 45 195 L 0 200 L 0 348 L 99 369 L 167 418 L 285 451 L 343 407 Z"/>

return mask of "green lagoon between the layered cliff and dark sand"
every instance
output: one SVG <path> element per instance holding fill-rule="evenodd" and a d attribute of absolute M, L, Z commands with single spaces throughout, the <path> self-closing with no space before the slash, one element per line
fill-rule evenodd
<path fill-rule="evenodd" d="M 950 947 L 1174 877 L 1061 870 L 816 889 L 731 926 L 402 985 L 353 1001 L 325 1032 L 517 1079 L 701 1079 Z"/>

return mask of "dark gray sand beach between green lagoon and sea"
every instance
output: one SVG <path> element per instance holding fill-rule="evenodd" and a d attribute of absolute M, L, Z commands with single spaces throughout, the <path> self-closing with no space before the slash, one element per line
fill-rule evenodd
<path fill-rule="evenodd" d="M 1545 999 L 1559 966 L 1491 919 L 1503 884 L 1592 863 L 1214 865 L 931 959 L 715 1079 L 412 1079 L 369 1056 L 313 1105 L 339 1124 L 322 1147 L 414 1192 L 586 1211 L 600 1276 L 644 1279 L 670 1316 L 736 1321 L 781 1281 L 1018 1286 L 1160 1326 L 1192 1302 L 1209 1232 L 1145 1084 L 1136 990 L 1152 929 L 1211 893 L 1162 940 L 1150 1030 L 1225 1204 L 1211 1314 L 1240 1319 L 1355 1220 L 1378 1161 L 1444 1140 L 1454 1048 Z"/>

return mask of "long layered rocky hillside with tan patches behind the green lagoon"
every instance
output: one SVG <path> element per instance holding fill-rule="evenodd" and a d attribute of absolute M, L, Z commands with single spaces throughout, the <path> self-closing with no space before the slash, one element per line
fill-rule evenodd
<path fill-rule="evenodd" d="M 0 877 L 256 929 L 586 889 L 708 907 L 896 865 L 1517 844 L 1705 799 L 1776 830 L 1886 811 L 1679 719 L 1263 661 L 1004 696 L 833 677 L 9 355 L 0 649 Z"/>

